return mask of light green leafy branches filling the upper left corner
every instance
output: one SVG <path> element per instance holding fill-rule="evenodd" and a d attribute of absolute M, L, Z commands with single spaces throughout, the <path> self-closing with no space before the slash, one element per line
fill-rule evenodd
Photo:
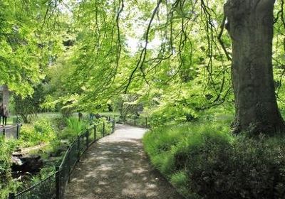
<path fill-rule="evenodd" d="M 58 51 L 57 31 L 51 27 L 57 12 L 55 4 L 41 0 L 0 2 L 0 85 L 22 97 L 32 94 Z"/>

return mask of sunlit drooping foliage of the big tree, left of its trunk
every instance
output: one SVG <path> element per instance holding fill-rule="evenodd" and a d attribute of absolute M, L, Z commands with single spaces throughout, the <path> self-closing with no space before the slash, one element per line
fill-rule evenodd
<path fill-rule="evenodd" d="M 151 24 L 152 31 L 147 32 L 145 21 L 150 20 L 150 12 L 157 6 L 154 2 L 110 2 L 72 4 L 74 29 L 68 28 L 72 45 L 48 72 L 51 95 L 46 97 L 46 107 L 59 105 L 63 109 L 96 112 L 98 106 L 116 104 L 124 116 L 141 112 L 142 105 L 152 110 L 177 106 L 187 109 L 185 114 L 195 118 L 196 107 L 226 100 L 231 85 L 229 62 L 219 45 L 204 42 L 204 34 L 211 34 L 203 23 L 206 16 L 199 18 L 194 11 L 188 12 L 198 9 L 197 4 L 160 4 L 157 21 Z M 217 6 L 211 1 L 209 6 L 222 10 L 222 4 Z M 171 21 L 172 29 L 167 26 L 165 11 L 170 12 L 169 18 L 175 18 Z M 209 11 L 216 17 L 213 20 L 222 21 L 222 13 Z M 188 24 L 190 20 L 192 25 Z M 188 32 L 192 33 L 191 38 Z M 149 46 L 130 48 L 132 41 L 147 45 L 147 34 Z M 216 37 L 214 40 L 217 42 Z M 157 41 L 160 46 L 152 45 Z M 225 36 L 224 43 L 230 48 L 229 37 Z M 145 54 L 140 50 L 145 50 Z M 184 114 L 177 118 L 185 120 Z"/>

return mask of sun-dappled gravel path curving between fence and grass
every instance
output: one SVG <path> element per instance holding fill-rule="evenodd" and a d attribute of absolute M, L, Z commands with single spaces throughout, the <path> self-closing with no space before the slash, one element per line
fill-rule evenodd
<path fill-rule="evenodd" d="M 116 125 L 93 144 L 73 171 L 66 199 L 182 199 L 150 165 L 142 149 L 146 129 Z"/>

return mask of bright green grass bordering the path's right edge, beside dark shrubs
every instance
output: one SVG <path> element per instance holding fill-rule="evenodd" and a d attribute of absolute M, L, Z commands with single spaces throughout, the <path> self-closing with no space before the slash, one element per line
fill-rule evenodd
<path fill-rule="evenodd" d="M 217 123 L 201 124 L 199 122 L 158 127 L 148 131 L 143 138 L 143 144 L 152 164 L 159 170 L 177 190 L 187 198 L 197 198 L 189 191 L 189 176 L 185 171 L 188 148 L 198 151 L 202 145 L 202 134 L 219 134 L 229 139 L 229 134 L 220 133 L 228 131 L 229 125 Z M 197 156 L 199 161 L 200 157 Z"/>

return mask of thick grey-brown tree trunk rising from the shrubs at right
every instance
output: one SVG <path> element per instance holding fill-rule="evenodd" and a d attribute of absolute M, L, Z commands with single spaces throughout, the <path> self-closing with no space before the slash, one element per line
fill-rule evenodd
<path fill-rule="evenodd" d="M 284 131 L 272 68 L 274 0 L 227 0 L 224 13 L 232 38 L 234 131 Z"/>

